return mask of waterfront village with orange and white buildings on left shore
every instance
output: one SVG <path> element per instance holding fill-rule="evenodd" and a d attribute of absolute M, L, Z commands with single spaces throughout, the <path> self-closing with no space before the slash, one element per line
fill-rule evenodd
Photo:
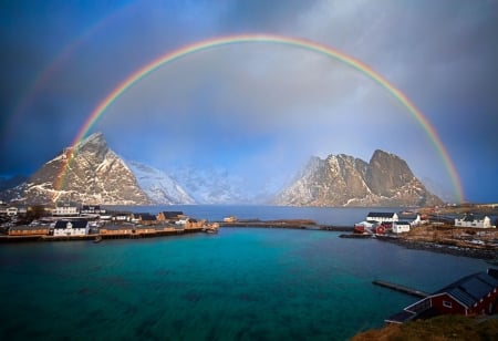
<path fill-rule="evenodd" d="M 44 207 L 0 206 L 0 240 L 84 240 L 143 238 L 196 231 L 217 232 L 218 224 L 183 211 L 110 211 L 100 205 L 62 204 Z"/>

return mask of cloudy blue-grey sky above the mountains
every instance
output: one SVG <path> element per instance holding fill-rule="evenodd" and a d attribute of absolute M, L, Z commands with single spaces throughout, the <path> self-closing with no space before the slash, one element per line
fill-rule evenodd
<path fill-rule="evenodd" d="M 75 1 L 0 3 L 0 176 L 30 175 L 70 146 L 134 72 L 234 34 L 303 39 L 369 65 L 434 128 L 465 200 L 498 203 L 497 0 Z M 312 155 L 375 149 L 457 199 L 448 165 L 409 111 L 367 74 L 278 43 L 207 49 L 124 92 L 89 133 L 163 170 L 221 167 L 251 186 Z"/>

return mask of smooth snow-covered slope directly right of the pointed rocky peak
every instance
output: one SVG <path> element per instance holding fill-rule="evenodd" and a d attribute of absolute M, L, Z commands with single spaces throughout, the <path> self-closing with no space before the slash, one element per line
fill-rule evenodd
<path fill-rule="evenodd" d="M 126 162 L 138 186 L 154 204 L 196 204 L 196 200 L 166 173 L 151 166 Z"/>

